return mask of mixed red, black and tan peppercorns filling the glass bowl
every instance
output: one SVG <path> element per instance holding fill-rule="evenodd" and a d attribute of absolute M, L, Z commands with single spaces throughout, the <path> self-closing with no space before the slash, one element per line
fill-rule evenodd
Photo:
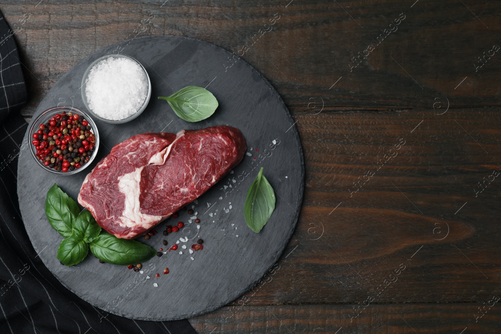
<path fill-rule="evenodd" d="M 96 148 L 96 136 L 83 116 L 63 111 L 40 124 L 32 144 L 47 168 L 68 172 L 89 162 Z"/>

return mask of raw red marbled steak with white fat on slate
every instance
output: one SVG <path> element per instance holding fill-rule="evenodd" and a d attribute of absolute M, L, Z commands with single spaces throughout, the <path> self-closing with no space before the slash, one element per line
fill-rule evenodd
<path fill-rule="evenodd" d="M 242 134 L 229 126 L 136 135 L 87 175 L 78 202 L 105 230 L 132 239 L 206 192 L 245 150 Z"/>

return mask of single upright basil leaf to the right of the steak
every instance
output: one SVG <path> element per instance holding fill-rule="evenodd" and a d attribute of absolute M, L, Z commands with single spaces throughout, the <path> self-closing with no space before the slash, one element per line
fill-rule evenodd
<path fill-rule="evenodd" d="M 259 233 L 270 219 L 273 210 L 275 210 L 275 191 L 263 175 L 261 167 L 258 177 L 250 185 L 243 205 L 245 223 L 254 232 Z"/>

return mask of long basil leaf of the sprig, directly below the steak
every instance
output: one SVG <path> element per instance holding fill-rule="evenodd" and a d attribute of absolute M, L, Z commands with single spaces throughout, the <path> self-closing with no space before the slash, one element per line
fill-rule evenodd
<path fill-rule="evenodd" d="M 156 251 L 135 240 L 119 239 L 103 232 L 90 244 L 92 253 L 99 259 L 113 264 L 136 264 L 155 256 Z"/>

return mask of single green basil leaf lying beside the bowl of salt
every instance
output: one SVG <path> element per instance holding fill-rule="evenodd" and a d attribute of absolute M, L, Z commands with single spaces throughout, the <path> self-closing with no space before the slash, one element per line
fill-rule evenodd
<path fill-rule="evenodd" d="M 159 96 L 166 100 L 179 118 L 188 122 L 198 122 L 214 113 L 218 103 L 214 95 L 205 88 L 188 86 L 171 96 Z"/>

